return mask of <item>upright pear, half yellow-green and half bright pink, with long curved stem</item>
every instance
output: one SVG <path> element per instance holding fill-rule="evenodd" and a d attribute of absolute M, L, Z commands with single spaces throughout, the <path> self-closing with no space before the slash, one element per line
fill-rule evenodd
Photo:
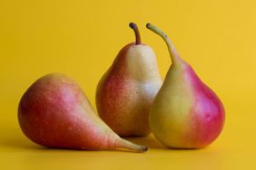
<path fill-rule="evenodd" d="M 172 65 L 153 101 L 150 126 L 153 135 L 173 148 L 202 148 L 221 133 L 224 124 L 222 101 L 183 61 L 170 39 L 153 24 L 148 29 L 167 43 Z"/>

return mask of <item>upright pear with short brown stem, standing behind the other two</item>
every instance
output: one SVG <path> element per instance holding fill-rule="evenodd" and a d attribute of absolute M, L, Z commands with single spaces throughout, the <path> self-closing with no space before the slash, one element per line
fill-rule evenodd
<path fill-rule="evenodd" d="M 136 42 L 123 47 L 99 81 L 96 107 L 103 121 L 121 137 L 147 136 L 149 110 L 162 86 L 152 48 L 141 42 L 136 24 Z"/>

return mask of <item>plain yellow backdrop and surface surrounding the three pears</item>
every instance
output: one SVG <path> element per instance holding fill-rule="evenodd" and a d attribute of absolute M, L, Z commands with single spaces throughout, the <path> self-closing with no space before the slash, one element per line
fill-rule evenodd
<path fill-rule="evenodd" d="M 0 1 L 0 169 L 255 169 L 255 9 L 252 0 Z M 94 104 L 103 72 L 134 41 L 130 22 L 152 46 L 162 78 L 169 54 L 147 22 L 162 28 L 218 93 L 226 109 L 221 137 L 201 150 L 132 138 L 150 147 L 144 154 L 52 150 L 30 142 L 16 118 L 25 90 L 46 73 L 64 72 Z"/>

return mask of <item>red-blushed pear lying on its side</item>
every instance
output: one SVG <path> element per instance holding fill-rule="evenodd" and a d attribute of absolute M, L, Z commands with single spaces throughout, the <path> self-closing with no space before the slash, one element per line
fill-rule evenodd
<path fill-rule="evenodd" d="M 78 84 L 61 73 L 47 74 L 26 90 L 19 103 L 18 120 L 25 136 L 42 146 L 147 150 L 117 136 L 95 115 Z"/>

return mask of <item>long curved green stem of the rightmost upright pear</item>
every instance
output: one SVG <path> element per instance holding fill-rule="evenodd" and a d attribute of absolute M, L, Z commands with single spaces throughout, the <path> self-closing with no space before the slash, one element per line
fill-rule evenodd
<path fill-rule="evenodd" d="M 164 40 L 164 42 L 166 42 L 167 44 L 167 47 L 168 47 L 168 51 L 170 53 L 170 56 L 171 56 L 171 60 L 172 60 L 172 64 L 176 64 L 176 63 L 179 63 L 181 62 L 181 58 L 180 58 L 180 55 L 179 53 L 176 51 L 173 43 L 171 42 L 171 40 L 168 38 L 168 36 L 162 32 L 162 30 L 160 30 L 159 28 L 157 28 L 156 26 L 154 26 L 153 24 L 146 24 L 146 27 L 153 31 L 153 33 L 156 33 L 158 35 L 160 35 L 162 37 L 162 39 Z"/>

